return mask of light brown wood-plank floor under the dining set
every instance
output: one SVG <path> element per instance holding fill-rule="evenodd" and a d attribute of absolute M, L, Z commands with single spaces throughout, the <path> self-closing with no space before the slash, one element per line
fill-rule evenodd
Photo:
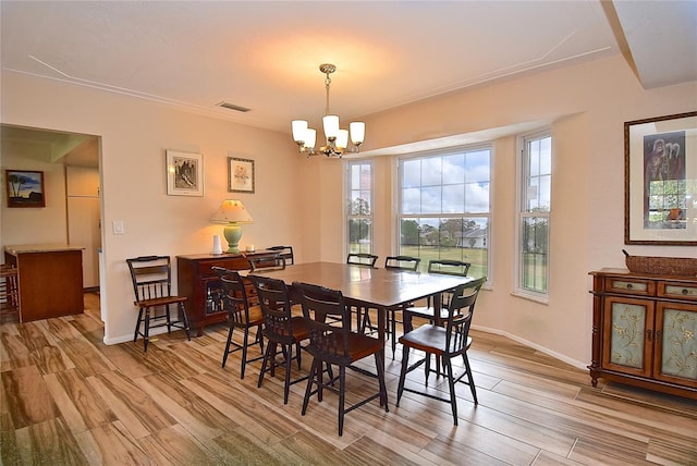
<path fill-rule="evenodd" d="M 259 363 L 244 380 L 239 353 L 222 369 L 224 324 L 160 335 L 146 355 L 140 340 L 105 345 L 98 298 L 85 299 L 84 315 L 0 327 L 3 465 L 697 464 L 694 401 L 594 389 L 587 371 L 505 338 L 473 332 L 479 405 L 460 384 L 458 427 L 445 403 L 405 393 L 394 406 L 388 350 L 390 412 L 376 401 L 347 414 L 340 438 L 334 394 L 301 416 L 305 384 L 283 405 L 282 370 L 259 389 Z M 347 402 L 374 388 L 352 372 Z"/>

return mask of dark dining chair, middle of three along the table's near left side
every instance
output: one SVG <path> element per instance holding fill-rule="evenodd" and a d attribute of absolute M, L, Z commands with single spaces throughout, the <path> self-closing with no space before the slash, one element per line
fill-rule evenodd
<path fill-rule="evenodd" d="M 282 365 L 285 366 L 285 379 L 283 384 L 283 404 L 288 404 L 291 385 L 307 380 L 307 376 L 291 380 L 293 348 L 297 368 L 301 368 L 302 348 L 301 342 L 308 339 L 307 323 L 301 316 L 293 316 L 288 286 L 283 280 L 270 277 L 248 275 L 257 291 L 261 315 L 264 316 L 264 336 L 267 339 L 267 347 L 259 372 L 261 387 L 267 370 L 271 377 L 276 377 L 276 368 L 281 366 L 277 361 L 279 346 L 283 355 Z"/>

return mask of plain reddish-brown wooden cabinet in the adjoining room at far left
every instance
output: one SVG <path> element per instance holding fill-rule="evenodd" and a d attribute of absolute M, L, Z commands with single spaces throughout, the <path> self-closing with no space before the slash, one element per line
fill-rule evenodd
<path fill-rule="evenodd" d="M 83 247 L 5 246 L 4 261 L 17 268 L 20 322 L 84 312 Z"/>

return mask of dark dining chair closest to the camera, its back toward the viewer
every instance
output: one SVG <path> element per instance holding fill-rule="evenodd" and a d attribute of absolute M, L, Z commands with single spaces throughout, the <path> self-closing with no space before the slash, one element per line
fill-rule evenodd
<path fill-rule="evenodd" d="M 306 350 L 313 355 L 307 389 L 303 400 L 303 416 L 307 413 L 309 398 L 317 394 L 321 403 L 325 390 L 339 394 L 339 436 L 343 434 L 344 415 L 372 400 L 379 398 L 380 405 L 388 408 L 388 392 L 384 384 L 384 367 L 381 357 L 383 342 L 371 336 L 351 331 L 351 311 L 340 291 L 329 290 L 307 283 L 293 283 L 301 293 L 303 317 L 309 331 L 309 344 Z M 329 319 L 333 317 L 334 320 Z M 377 373 L 354 366 L 354 363 L 372 355 Z M 329 373 L 325 380 L 323 366 L 339 366 L 339 388 L 337 379 Z M 346 407 L 346 368 L 377 378 L 379 391 Z M 315 390 L 313 388 L 316 387 Z"/>

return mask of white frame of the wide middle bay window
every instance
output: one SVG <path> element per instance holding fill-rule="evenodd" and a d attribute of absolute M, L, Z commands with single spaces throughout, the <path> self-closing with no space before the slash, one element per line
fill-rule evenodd
<path fill-rule="evenodd" d="M 404 219 L 415 219 L 418 221 L 418 219 L 441 219 L 441 218 L 463 218 L 463 219 L 484 219 L 486 220 L 486 225 L 487 225 L 487 233 L 485 238 L 482 240 L 485 242 L 485 247 L 484 249 L 486 249 L 486 254 L 487 254 L 487 260 L 486 260 L 486 275 L 487 275 L 487 285 L 489 285 L 490 280 L 492 278 L 492 249 L 491 249 L 491 225 L 492 225 L 492 218 L 493 218 L 493 186 L 494 186 L 494 180 L 493 180 L 493 160 L 494 160 L 494 149 L 496 149 L 496 144 L 492 140 L 488 140 L 488 142 L 484 142 L 484 143 L 477 143 L 477 144 L 470 144 L 470 145 L 465 145 L 465 146 L 455 146 L 455 147 L 444 147 L 444 148 L 438 148 L 438 149 L 433 149 L 433 150 L 428 150 L 428 151 L 420 151 L 420 152 L 413 152 L 413 154 L 407 154 L 407 155 L 403 155 L 396 158 L 395 160 L 395 165 L 394 165 L 394 173 L 395 173 L 395 181 L 396 183 L 394 184 L 395 186 L 395 191 L 396 191 L 396 195 L 395 195 L 395 208 L 394 208 L 394 219 L 395 219 L 395 234 L 394 234 L 394 241 L 393 241 L 393 253 L 394 254 L 400 254 L 401 252 L 401 247 L 402 247 L 402 242 L 401 242 L 401 234 L 402 234 L 402 221 Z M 488 199 L 488 210 L 486 212 L 469 212 L 469 211 L 463 211 L 463 212 L 448 212 L 448 211 L 443 211 L 443 208 L 441 206 L 441 211 L 433 213 L 433 212 L 428 212 L 428 213 L 403 213 L 403 195 L 404 195 L 404 186 L 403 186 L 403 182 L 404 182 L 404 176 L 401 172 L 403 163 L 405 161 L 408 160 L 415 160 L 415 159 L 426 159 L 426 158 L 433 158 L 433 157 L 447 157 L 447 156 L 451 156 L 451 155 L 455 155 L 455 154 L 460 154 L 460 152 L 464 152 L 464 154 L 468 154 L 468 152 L 478 152 L 478 151 L 488 151 L 489 152 L 489 165 L 488 165 L 488 194 L 489 194 L 489 199 Z M 474 182 L 477 183 L 477 182 Z M 467 182 L 464 183 L 465 185 L 467 184 Z M 445 184 L 442 183 L 441 180 L 441 184 L 438 186 L 444 186 Z M 465 200 L 466 203 L 466 200 Z M 420 255 L 419 255 L 420 257 Z M 466 259 L 465 259 L 466 260 Z M 421 263 L 419 265 L 419 270 L 421 271 L 426 271 L 428 268 L 428 260 L 425 260 L 423 258 Z"/>

